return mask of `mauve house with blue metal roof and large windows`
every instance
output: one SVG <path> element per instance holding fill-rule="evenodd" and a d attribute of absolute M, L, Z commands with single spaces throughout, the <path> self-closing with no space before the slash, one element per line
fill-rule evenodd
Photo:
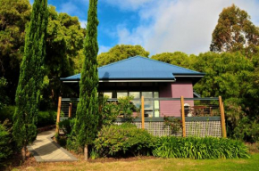
<path fill-rule="evenodd" d="M 136 56 L 98 68 L 98 92 L 117 99 L 133 95 L 132 101 L 140 106 L 145 97 L 145 113 L 149 118 L 180 117 L 180 101 L 184 96 L 193 98 L 193 86 L 205 73 L 185 69 L 162 61 Z M 78 83 L 80 74 L 61 78 L 63 83 Z M 169 101 L 166 98 L 170 98 Z M 187 101 L 193 106 L 194 101 Z"/>

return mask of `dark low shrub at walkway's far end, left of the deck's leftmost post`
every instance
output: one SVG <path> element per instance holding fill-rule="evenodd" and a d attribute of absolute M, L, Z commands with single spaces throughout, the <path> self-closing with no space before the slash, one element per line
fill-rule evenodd
<path fill-rule="evenodd" d="M 55 124 L 56 111 L 39 111 L 38 112 L 38 127 L 51 126 Z"/>

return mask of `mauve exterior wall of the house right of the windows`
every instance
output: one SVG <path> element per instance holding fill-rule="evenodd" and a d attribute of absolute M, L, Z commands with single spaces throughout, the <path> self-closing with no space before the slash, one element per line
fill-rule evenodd
<path fill-rule="evenodd" d="M 191 81 L 179 81 L 160 86 L 160 98 L 193 98 L 193 85 Z M 190 106 L 193 102 L 185 102 Z M 160 117 L 180 117 L 180 101 L 160 101 Z"/>

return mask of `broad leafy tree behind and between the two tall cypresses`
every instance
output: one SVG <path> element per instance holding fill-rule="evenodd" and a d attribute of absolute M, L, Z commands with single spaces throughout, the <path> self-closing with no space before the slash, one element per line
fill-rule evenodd
<path fill-rule="evenodd" d="M 80 28 L 79 19 L 67 13 L 58 13 L 54 6 L 48 7 L 49 17 L 46 40 L 46 85 L 42 90 L 42 101 L 55 104 L 62 89 L 63 94 L 68 94 L 71 89 L 61 85 L 60 77 L 68 77 L 79 73 L 82 68 L 81 56 L 86 30 Z M 50 107 L 52 107 L 50 106 Z"/>

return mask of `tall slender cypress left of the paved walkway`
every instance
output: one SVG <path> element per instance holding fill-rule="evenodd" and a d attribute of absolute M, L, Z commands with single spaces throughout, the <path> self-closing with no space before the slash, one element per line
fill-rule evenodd
<path fill-rule="evenodd" d="M 35 0 L 26 30 L 24 56 L 15 96 L 17 107 L 13 116 L 13 136 L 21 147 L 23 161 L 26 159 L 26 146 L 37 136 L 38 103 L 46 56 L 47 20 L 47 0 Z"/>

